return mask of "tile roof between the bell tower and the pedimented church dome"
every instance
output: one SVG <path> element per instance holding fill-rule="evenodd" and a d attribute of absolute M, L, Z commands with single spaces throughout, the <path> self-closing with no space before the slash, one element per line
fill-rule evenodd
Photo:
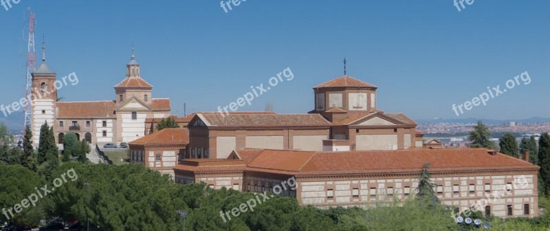
<path fill-rule="evenodd" d="M 114 101 L 57 102 L 57 118 L 115 117 Z"/>

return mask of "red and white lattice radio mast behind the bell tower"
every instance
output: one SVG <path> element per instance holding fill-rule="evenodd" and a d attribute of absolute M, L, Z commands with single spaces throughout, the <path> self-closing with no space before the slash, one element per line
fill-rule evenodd
<path fill-rule="evenodd" d="M 25 98 L 27 99 L 27 104 L 25 104 L 25 128 L 30 126 L 32 119 L 32 109 L 31 109 L 31 94 L 32 94 L 32 72 L 36 71 L 36 54 L 34 52 L 34 14 L 29 11 L 29 37 L 28 37 L 28 50 L 27 50 L 27 78 L 25 83 Z M 23 128 L 23 131 L 27 129 Z"/>

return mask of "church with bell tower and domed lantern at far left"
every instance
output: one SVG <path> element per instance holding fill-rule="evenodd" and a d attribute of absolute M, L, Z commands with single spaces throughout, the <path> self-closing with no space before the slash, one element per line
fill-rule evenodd
<path fill-rule="evenodd" d="M 131 142 L 146 133 L 147 118 L 170 115 L 170 99 L 153 98 L 153 86 L 140 76 L 140 65 L 132 54 L 126 65 L 126 78 L 115 85 L 115 100 L 58 102 L 56 73 L 45 63 L 32 73 L 33 144 L 38 146 L 40 128 L 47 122 L 54 127 L 58 144 L 65 133 L 73 132 L 79 140 L 89 143 Z M 37 92 L 40 91 L 40 92 Z M 49 92 L 50 94 L 44 94 Z"/>

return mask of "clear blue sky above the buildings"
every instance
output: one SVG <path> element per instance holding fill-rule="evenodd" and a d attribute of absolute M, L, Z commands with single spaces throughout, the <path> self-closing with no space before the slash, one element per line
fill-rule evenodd
<path fill-rule="evenodd" d="M 379 87 L 377 107 L 386 112 L 550 118 L 550 1 L 464 5 L 248 0 L 225 12 L 219 1 L 12 2 L 8 10 L 0 5 L 0 104 L 24 95 L 23 15 L 30 7 L 37 60 L 44 36 L 50 69 L 58 78 L 78 76 L 77 85 L 59 90 L 65 101 L 114 100 L 134 46 L 153 98 L 170 98 L 179 116 L 184 103 L 187 114 L 217 111 L 284 69 L 292 80 L 283 77 L 239 111 L 264 111 L 271 102 L 277 113 L 307 113 L 312 87 L 342 76 L 345 57 L 349 76 Z M 487 105 L 453 111 L 453 104 L 494 94 L 492 87 L 503 91 L 508 80 L 514 87 Z"/>

